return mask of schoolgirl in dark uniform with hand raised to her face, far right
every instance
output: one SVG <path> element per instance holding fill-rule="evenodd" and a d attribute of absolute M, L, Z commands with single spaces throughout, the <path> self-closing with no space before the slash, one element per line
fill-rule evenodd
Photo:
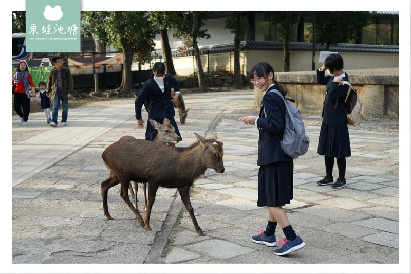
<path fill-rule="evenodd" d="M 340 54 L 329 55 L 323 66 L 317 70 L 317 83 L 327 85 L 321 117 L 323 118 L 318 141 L 318 154 L 324 155 L 326 176 L 317 181 L 321 186 L 332 185 L 333 188 L 343 188 L 347 185 L 345 179 L 346 157 L 351 156 L 350 137 L 348 134 L 347 115 L 343 107 L 348 93 L 348 74 L 343 70 L 344 61 Z M 328 76 L 325 76 L 328 70 Z M 334 158 L 337 158 L 339 176 L 333 181 L 332 168 Z"/>

